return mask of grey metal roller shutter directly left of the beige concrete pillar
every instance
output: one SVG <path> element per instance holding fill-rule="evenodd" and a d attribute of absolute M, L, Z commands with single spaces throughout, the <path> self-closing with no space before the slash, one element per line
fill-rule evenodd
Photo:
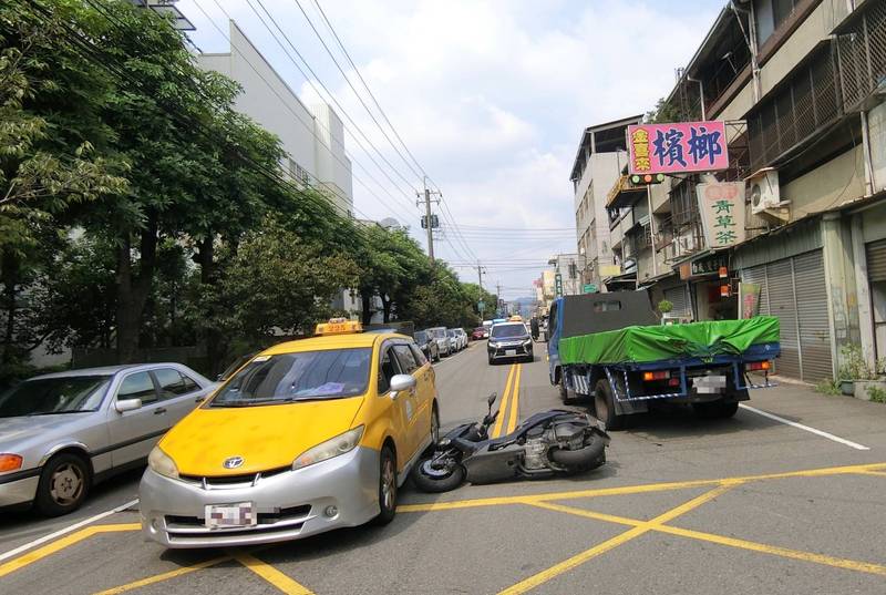
<path fill-rule="evenodd" d="M 822 250 L 794 257 L 794 287 L 800 319 L 802 379 L 817 382 L 834 376 Z"/>

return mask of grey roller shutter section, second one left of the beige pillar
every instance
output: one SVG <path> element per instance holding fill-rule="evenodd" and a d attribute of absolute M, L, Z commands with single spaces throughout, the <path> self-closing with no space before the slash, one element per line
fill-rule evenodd
<path fill-rule="evenodd" d="M 782 355 L 775 360 L 775 371 L 800 378 L 800 329 L 790 258 L 766 265 L 766 299 L 761 301 L 769 304 L 769 314 L 777 316 L 781 324 Z"/>

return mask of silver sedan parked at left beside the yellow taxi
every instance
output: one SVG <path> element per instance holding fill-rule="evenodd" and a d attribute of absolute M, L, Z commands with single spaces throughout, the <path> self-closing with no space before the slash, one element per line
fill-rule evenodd
<path fill-rule="evenodd" d="M 0 507 L 56 516 L 90 486 L 144 464 L 169 428 L 216 387 L 187 366 L 89 368 L 31 378 L 0 394 Z"/>

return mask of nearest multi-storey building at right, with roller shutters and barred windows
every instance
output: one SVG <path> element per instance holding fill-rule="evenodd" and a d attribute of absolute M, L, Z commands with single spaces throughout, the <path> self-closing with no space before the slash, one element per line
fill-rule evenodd
<path fill-rule="evenodd" d="M 753 284 L 781 319 L 780 373 L 835 377 L 852 346 L 873 367 L 886 357 L 886 1 L 729 2 L 678 74 L 657 120 L 724 121 L 730 164 L 648 194 L 616 183 L 614 217 L 629 208 L 631 234 L 648 222 L 639 285 L 703 320 L 740 316 L 735 289 Z M 696 197 L 714 178 L 746 182 L 746 239 L 727 249 L 705 245 Z"/>

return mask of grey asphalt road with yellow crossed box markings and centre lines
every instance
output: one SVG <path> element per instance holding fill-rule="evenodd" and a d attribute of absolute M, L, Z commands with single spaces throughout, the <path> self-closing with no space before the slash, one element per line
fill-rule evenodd
<path fill-rule="evenodd" d="M 490 392 L 511 406 L 505 428 L 559 406 L 536 353 L 488 366 L 480 343 L 444 359 L 444 425 L 482 417 Z M 0 593 L 885 593 L 886 406 L 792 384 L 751 398 L 731 420 L 643 416 L 588 474 L 406 486 L 383 529 L 181 552 L 144 542 L 124 511 L 22 548 L 132 500 L 137 474 L 124 476 L 76 515 L 0 517 Z"/>

